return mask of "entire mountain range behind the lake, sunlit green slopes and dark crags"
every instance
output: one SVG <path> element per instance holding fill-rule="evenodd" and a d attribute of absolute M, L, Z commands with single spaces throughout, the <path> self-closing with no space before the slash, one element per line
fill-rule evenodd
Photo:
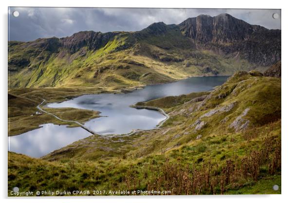
<path fill-rule="evenodd" d="M 189 76 L 266 70 L 281 59 L 281 31 L 228 14 L 137 32 L 82 31 L 65 38 L 8 42 L 8 86 L 120 89 Z"/>

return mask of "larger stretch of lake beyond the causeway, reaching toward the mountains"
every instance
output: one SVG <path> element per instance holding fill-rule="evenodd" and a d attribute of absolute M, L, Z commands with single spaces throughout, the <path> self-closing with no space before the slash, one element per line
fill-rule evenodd
<path fill-rule="evenodd" d="M 100 111 L 102 116 L 107 117 L 86 122 L 87 127 L 104 135 L 127 134 L 133 129 L 152 129 L 165 119 L 165 116 L 157 111 L 130 108 L 129 105 L 160 97 L 209 91 L 224 83 L 227 78 L 226 76 L 193 77 L 167 84 L 148 85 L 144 89 L 137 89 L 128 94 L 83 95 L 73 100 L 48 104 L 48 107 L 72 107 Z"/>

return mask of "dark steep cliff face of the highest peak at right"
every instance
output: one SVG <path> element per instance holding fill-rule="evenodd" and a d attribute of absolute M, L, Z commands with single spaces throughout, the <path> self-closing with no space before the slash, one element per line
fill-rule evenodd
<path fill-rule="evenodd" d="M 179 24 L 184 36 L 205 49 L 240 57 L 260 65 L 281 60 L 281 31 L 251 25 L 229 14 L 215 17 L 200 15 Z"/>

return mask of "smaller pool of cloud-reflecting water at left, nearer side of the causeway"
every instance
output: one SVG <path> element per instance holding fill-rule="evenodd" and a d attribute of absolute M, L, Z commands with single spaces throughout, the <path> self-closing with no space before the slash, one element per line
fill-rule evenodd
<path fill-rule="evenodd" d="M 40 126 L 42 127 L 21 135 L 8 137 L 8 151 L 41 157 L 92 135 L 81 127 L 66 127 L 52 123 Z"/>

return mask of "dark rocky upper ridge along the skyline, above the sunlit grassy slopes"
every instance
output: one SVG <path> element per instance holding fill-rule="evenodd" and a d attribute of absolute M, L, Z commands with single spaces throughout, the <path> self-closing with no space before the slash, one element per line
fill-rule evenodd
<path fill-rule="evenodd" d="M 226 13 L 215 17 L 199 15 L 188 18 L 178 25 L 155 22 L 137 32 L 81 31 L 60 39 L 53 37 L 23 43 L 10 42 L 9 48 L 13 50 L 14 45 L 17 47 L 18 44 L 21 44 L 19 46 L 23 48 L 29 47 L 26 55 L 27 58 L 32 58 L 32 56 L 38 56 L 43 50 L 56 53 L 65 49 L 70 54 L 76 53 L 83 47 L 87 50 L 97 50 L 114 38 L 123 41 L 122 46 L 115 50 L 126 49 L 136 42 L 143 41 L 165 50 L 172 47 L 212 50 L 225 54 L 227 57 L 246 59 L 263 66 L 269 66 L 281 60 L 280 30 L 269 30 L 259 25 L 251 25 Z M 154 56 L 157 57 L 157 54 Z M 16 64 L 21 64 L 22 67 L 22 64 L 29 63 L 30 60 L 24 58 L 25 60 L 17 60 Z"/>

